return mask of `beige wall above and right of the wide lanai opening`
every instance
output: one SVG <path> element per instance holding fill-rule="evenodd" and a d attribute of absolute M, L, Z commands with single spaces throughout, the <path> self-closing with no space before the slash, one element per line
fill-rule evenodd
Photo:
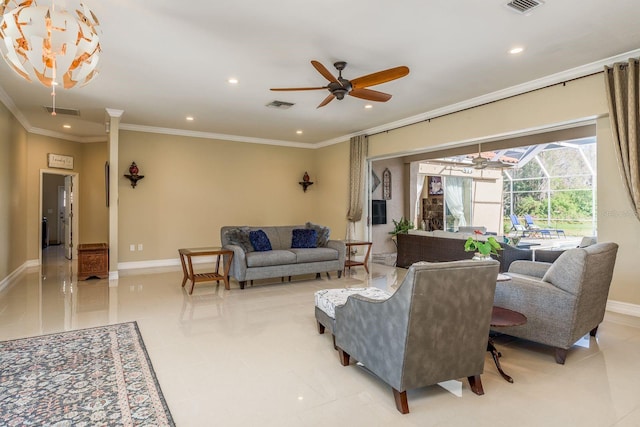
<path fill-rule="evenodd" d="M 609 298 L 637 305 L 640 288 L 636 285 L 635 254 L 640 241 L 640 222 L 633 216 L 615 161 L 602 75 L 370 136 L 369 154 L 389 156 L 465 142 L 472 144 L 512 132 L 596 117 L 598 239 L 614 241 L 620 246 Z"/>

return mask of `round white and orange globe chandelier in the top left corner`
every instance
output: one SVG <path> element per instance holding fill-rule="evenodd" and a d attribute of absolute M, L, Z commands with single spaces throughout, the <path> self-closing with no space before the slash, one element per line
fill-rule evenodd
<path fill-rule="evenodd" d="M 74 12 L 76 16 L 56 8 L 54 0 L 50 6 L 38 6 L 35 0 L 0 1 L 2 56 L 18 75 L 51 88 L 54 116 L 56 86 L 82 86 L 97 74 L 98 19 L 82 3 Z"/>

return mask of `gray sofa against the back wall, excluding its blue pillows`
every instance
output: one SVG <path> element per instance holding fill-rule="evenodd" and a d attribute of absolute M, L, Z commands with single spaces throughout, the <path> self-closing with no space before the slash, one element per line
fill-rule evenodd
<path fill-rule="evenodd" d="M 318 246 L 314 248 L 292 248 L 293 230 L 315 229 Z M 248 233 L 262 230 L 272 250 L 255 251 L 248 240 Z M 247 239 L 245 240 L 245 235 Z M 342 275 L 346 248 L 339 240 L 329 240 L 329 229 L 316 224 L 285 226 L 224 226 L 220 229 L 220 241 L 224 249 L 233 251 L 233 262 L 229 276 L 235 278 L 244 289 L 247 280 L 289 277 L 300 274 L 336 271 Z M 330 276 L 329 276 L 330 277 Z"/>

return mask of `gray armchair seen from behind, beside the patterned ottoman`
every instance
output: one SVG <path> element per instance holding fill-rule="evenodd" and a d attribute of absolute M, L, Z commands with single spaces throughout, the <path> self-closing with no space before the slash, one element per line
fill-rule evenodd
<path fill-rule="evenodd" d="M 335 309 L 335 342 L 393 388 L 398 411 L 407 390 L 467 377 L 484 394 L 483 372 L 499 263 L 452 261 L 409 268 L 387 300 L 352 295 Z"/>

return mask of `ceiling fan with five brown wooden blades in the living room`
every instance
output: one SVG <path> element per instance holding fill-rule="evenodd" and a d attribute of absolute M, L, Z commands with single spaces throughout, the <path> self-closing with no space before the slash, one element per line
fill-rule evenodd
<path fill-rule="evenodd" d="M 294 90 L 321 90 L 328 89 L 329 95 L 318 105 L 317 108 L 324 107 L 334 98 L 343 99 L 345 95 L 355 96 L 356 98 L 366 99 L 368 101 L 387 102 L 391 99 L 391 95 L 377 90 L 367 89 L 367 86 L 375 86 L 382 83 L 390 82 L 395 79 L 409 74 L 409 68 L 405 66 L 389 68 L 388 70 L 378 71 L 377 73 L 367 74 L 353 80 L 347 80 L 342 77 L 342 70 L 345 69 L 347 63 L 338 61 L 333 64 L 338 70 L 336 78 L 324 65 L 318 61 L 311 61 L 311 65 L 318 70 L 322 76 L 329 80 L 329 84 L 320 87 L 290 87 L 290 88 L 272 88 L 275 91 L 294 91 Z"/>

